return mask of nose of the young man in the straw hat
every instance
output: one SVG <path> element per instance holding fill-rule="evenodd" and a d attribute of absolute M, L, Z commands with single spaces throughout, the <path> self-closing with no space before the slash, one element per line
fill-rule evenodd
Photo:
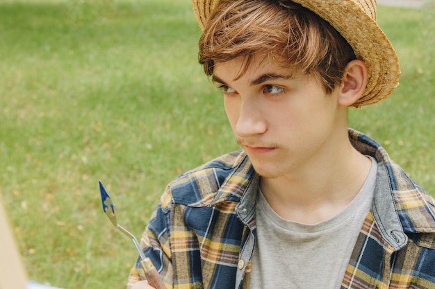
<path fill-rule="evenodd" d="M 238 118 L 233 129 L 238 137 L 243 138 L 263 134 L 267 125 L 261 112 L 261 105 L 252 98 L 240 100 Z"/>

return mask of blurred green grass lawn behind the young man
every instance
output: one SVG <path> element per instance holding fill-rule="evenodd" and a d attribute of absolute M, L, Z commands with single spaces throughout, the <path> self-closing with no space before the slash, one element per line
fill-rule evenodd
<path fill-rule="evenodd" d="M 434 9 L 379 8 L 400 87 L 350 125 L 435 192 Z M 190 1 L 2 1 L 0 194 L 29 277 L 68 289 L 124 288 L 131 240 L 165 185 L 238 148 L 197 64 Z"/>

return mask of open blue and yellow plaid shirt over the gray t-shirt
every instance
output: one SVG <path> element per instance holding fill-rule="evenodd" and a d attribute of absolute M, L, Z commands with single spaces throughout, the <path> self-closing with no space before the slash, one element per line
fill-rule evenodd
<path fill-rule="evenodd" d="M 349 136 L 354 148 L 377 159 L 378 171 L 372 209 L 341 288 L 434 289 L 434 199 L 378 143 L 354 130 Z M 249 288 L 257 188 L 258 175 L 243 151 L 167 186 L 141 238 L 167 288 Z M 137 262 L 128 288 L 139 279 L 145 276 Z"/>

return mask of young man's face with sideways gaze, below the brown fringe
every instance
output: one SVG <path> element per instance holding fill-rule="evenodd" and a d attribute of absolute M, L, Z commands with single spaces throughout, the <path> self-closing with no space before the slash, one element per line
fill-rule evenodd
<path fill-rule="evenodd" d="M 261 60 L 254 57 L 237 80 L 243 58 L 215 63 L 213 80 L 224 92 L 231 128 L 263 177 L 309 173 L 347 136 L 346 108 L 313 76 Z"/>

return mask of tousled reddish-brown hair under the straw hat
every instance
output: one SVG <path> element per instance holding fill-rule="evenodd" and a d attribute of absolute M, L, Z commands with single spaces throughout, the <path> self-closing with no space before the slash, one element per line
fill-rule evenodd
<path fill-rule="evenodd" d="M 213 75 L 215 62 L 239 56 L 249 67 L 254 55 L 316 76 L 327 93 L 343 81 L 356 59 L 344 38 L 325 21 L 289 0 L 221 0 L 199 39 L 199 63 Z"/>

